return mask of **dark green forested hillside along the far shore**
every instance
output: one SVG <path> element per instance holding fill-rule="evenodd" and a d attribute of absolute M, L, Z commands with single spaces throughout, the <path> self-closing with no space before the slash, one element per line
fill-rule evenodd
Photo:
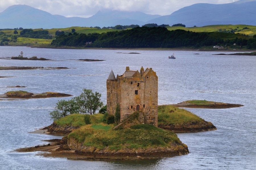
<path fill-rule="evenodd" d="M 91 44 L 86 42 L 92 42 Z M 52 46 L 105 47 L 105 48 L 177 48 L 238 44 L 256 48 L 256 37 L 234 33 L 196 33 L 184 30 L 168 31 L 165 27 L 136 27 L 129 30 L 94 34 L 60 35 Z"/>

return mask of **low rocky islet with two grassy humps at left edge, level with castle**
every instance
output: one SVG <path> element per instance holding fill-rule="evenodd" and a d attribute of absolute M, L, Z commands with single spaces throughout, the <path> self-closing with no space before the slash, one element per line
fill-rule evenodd
<path fill-rule="evenodd" d="M 48 98 L 48 97 L 69 97 L 70 94 L 57 93 L 57 92 L 45 92 L 45 93 L 30 93 L 26 91 L 10 91 L 5 94 L 0 94 L 0 98 L 11 98 L 11 99 L 31 99 L 31 98 Z"/>

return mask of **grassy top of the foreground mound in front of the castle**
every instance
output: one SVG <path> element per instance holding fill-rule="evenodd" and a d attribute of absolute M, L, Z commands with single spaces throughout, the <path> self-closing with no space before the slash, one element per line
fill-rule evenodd
<path fill-rule="evenodd" d="M 149 124 L 131 126 L 128 129 L 113 130 L 110 125 L 85 125 L 71 132 L 68 138 L 75 139 L 85 146 L 110 150 L 127 148 L 147 148 L 150 146 L 167 147 L 170 143 L 181 141 L 174 132 L 157 128 Z M 150 135 L 149 135 L 150 134 Z"/>

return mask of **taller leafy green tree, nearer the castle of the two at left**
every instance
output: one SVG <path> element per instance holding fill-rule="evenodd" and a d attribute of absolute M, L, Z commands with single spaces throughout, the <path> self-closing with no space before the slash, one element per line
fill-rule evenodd
<path fill-rule="evenodd" d="M 81 113 L 90 113 L 92 115 L 103 106 L 100 97 L 101 94 L 98 92 L 93 93 L 92 90 L 83 89 L 82 94 L 75 97 L 75 101 Z"/>

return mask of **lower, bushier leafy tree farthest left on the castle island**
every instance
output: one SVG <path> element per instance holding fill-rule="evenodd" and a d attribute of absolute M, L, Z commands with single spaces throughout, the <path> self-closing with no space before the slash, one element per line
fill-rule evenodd
<path fill-rule="evenodd" d="M 74 114 L 79 112 L 79 107 L 74 99 L 71 100 L 60 100 L 56 103 L 56 106 L 52 112 L 49 114 L 53 120 L 58 120 L 59 118 L 65 117 L 69 114 Z"/>

